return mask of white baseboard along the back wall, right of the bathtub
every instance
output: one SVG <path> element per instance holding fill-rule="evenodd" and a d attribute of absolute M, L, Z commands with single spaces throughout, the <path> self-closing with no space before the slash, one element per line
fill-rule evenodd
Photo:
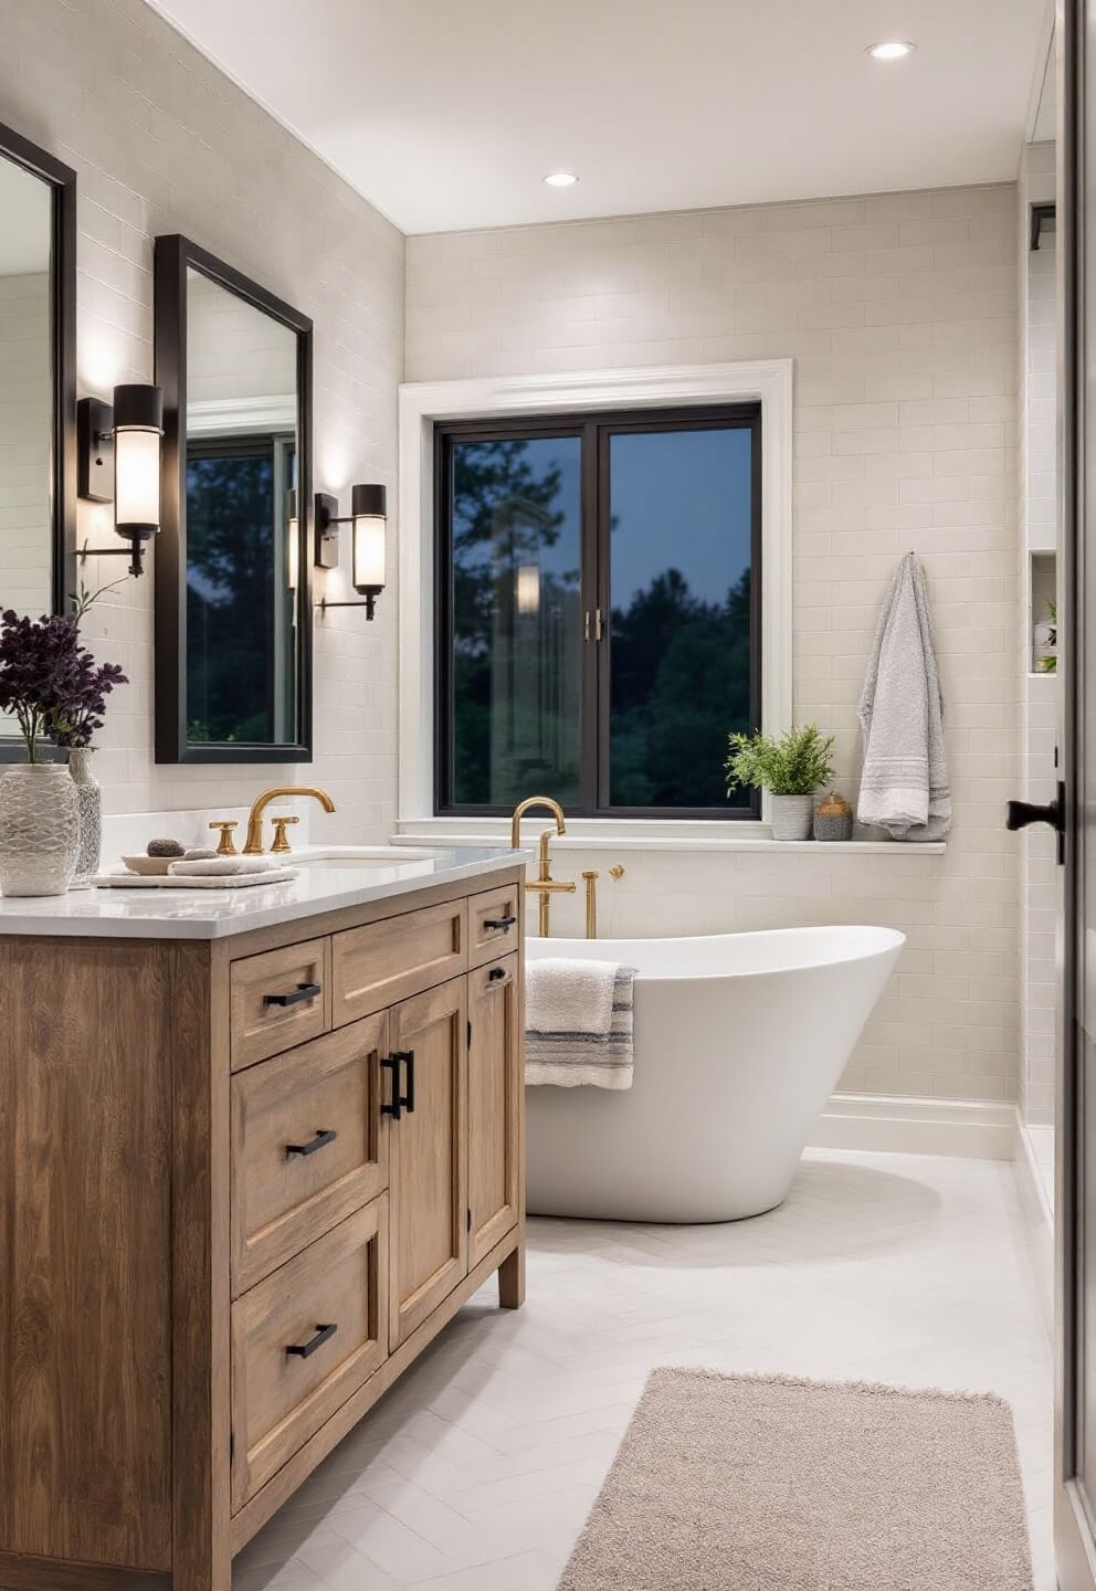
<path fill-rule="evenodd" d="M 1020 1115 L 1015 1104 L 830 1095 L 829 1106 L 811 1133 L 810 1147 L 1013 1160 L 1018 1134 Z"/>

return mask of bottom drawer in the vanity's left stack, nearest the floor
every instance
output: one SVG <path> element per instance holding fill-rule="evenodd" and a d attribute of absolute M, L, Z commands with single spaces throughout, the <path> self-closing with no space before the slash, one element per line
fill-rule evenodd
<path fill-rule="evenodd" d="M 387 1193 L 237 1298 L 232 1511 L 380 1368 L 387 1322 Z"/>

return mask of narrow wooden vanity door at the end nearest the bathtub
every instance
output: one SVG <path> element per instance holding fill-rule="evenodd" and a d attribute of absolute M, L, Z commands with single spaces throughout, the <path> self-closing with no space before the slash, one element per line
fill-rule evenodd
<path fill-rule="evenodd" d="M 468 978 L 469 1270 L 517 1225 L 522 1171 L 522 1002 L 519 958 Z"/>

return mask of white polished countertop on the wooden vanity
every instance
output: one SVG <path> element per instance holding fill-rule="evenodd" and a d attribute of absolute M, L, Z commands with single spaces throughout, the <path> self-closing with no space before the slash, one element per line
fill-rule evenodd
<path fill-rule="evenodd" d="M 70 889 L 64 896 L 0 897 L 0 936 L 91 939 L 224 939 L 394 899 L 431 885 L 484 878 L 523 866 L 528 851 L 404 845 L 302 846 L 282 885 L 245 889 Z M 110 867 L 110 872 L 119 869 Z M 484 888 L 488 888 L 485 883 Z"/>

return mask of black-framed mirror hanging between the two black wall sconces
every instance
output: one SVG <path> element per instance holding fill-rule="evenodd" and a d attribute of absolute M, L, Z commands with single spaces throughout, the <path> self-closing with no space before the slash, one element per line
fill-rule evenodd
<path fill-rule="evenodd" d="M 156 239 L 156 760 L 312 760 L 312 321 Z"/>

